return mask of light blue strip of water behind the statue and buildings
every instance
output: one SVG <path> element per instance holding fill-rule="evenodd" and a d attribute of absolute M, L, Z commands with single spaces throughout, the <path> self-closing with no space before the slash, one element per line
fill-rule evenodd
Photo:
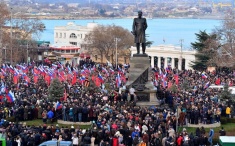
<path fill-rule="evenodd" d="M 82 19 L 82 20 L 42 20 L 45 24 L 45 31 L 38 40 L 50 41 L 54 44 L 54 28 L 65 26 L 68 22 L 86 26 L 89 22 L 96 22 L 100 25 L 117 25 L 129 31 L 132 30 L 133 19 Z M 146 30 L 147 40 L 152 41 L 152 46 L 174 45 L 181 46 L 184 50 L 191 49 L 191 43 L 196 41 L 195 33 L 199 31 L 213 32 L 222 25 L 218 19 L 147 19 Z"/>

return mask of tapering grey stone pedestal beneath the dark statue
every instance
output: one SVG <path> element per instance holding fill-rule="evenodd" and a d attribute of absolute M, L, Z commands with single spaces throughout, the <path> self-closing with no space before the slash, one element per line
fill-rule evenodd
<path fill-rule="evenodd" d="M 128 88 L 133 87 L 137 95 L 137 105 L 159 105 L 156 97 L 157 88 L 151 81 L 150 60 L 147 54 L 134 54 L 130 59 Z"/>

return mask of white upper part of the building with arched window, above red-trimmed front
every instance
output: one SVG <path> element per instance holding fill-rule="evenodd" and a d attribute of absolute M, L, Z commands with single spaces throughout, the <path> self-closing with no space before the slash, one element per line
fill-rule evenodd
<path fill-rule="evenodd" d="M 66 26 L 56 26 L 54 29 L 55 44 L 72 44 L 81 47 L 86 35 L 97 27 L 97 23 L 88 23 L 86 26 L 68 22 Z"/>

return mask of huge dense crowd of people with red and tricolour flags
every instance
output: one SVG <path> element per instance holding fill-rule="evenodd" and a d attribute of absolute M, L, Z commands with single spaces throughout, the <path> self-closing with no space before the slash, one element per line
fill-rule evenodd
<path fill-rule="evenodd" d="M 0 125 L 7 146 L 36 146 L 47 140 L 72 141 L 74 146 L 208 145 L 213 129 L 208 134 L 203 127 L 188 133 L 177 126 L 212 124 L 220 117 L 234 116 L 233 103 L 219 100 L 222 90 L 209 88 L 211 84 L 232 86 L 232 72 L 153 67 L 156 97 L 165 106 L 140 107 L 136 103 L 141 97 L 125 87 L 128 68 L 125 64 L 114 69 L 110 63 L 95 64 L 89 59 L 77 66 L 2 65 Z M 49 98 L 53 78 L 59 78 L 65 88 L 59 101 Z M 85 79 L 94 88 L 84 87 Z M 10 118 L 14 122 L 4 120 Z M 35 119 L 43 124 L 19 123 Z M 89 129 L 61 127 L 54 124 L 57 119 L 92 124 Z"/>

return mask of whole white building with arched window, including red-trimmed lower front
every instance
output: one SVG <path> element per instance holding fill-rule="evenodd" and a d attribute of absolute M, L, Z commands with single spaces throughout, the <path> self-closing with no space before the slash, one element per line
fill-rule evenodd
<path fill-rule="evenodd" d="M 87 23 L 86 26 L 68 22 L 66 26 L 56 26 L 54 28 L 54 44 L 50 46 L 61 63 L 79 63 L 80 59 L 89 58 L 85 48 L 82 48 L 84 39 L 97 23 Z"/>

